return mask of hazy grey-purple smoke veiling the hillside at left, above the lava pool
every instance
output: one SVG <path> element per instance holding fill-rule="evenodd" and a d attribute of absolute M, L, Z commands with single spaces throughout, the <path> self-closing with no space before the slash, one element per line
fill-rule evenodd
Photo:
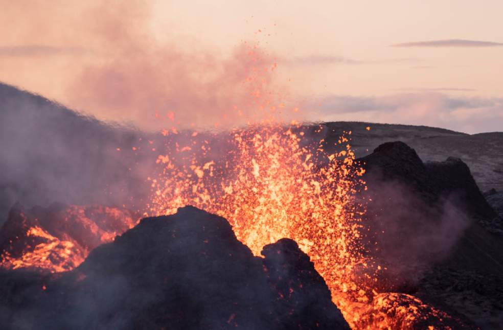
<path fill-rule="evenodd" d="M 147 134 L 8 85 L 0 85 L 0 104 L 0 224 L 16 201 L 141 205 L 155 157 L 132 148 L 148 145 Z"/>

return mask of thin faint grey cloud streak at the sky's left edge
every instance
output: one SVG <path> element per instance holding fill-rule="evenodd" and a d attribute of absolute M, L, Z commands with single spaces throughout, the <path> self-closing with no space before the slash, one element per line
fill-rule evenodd
<path fill-rule="evenodd" d="M 38 57 L 53 55 L 76 55 L 85 50 L 78 47 L 55 47 L 40 44 L 24 44 L 15 46 L 0 46 L 2 57 Z"/>

